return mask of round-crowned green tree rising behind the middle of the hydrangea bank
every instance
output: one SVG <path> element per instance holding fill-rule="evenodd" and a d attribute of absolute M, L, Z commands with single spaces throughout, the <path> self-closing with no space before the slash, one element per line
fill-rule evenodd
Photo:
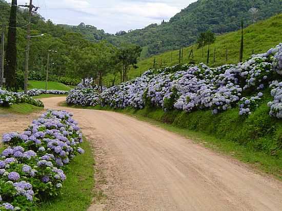
<path fill-rule="evenodd" d="M 134 44 L 122 44 L 118 48 L 117 57 L 123 64 L 123 69 L 120 71 L 120 82 L 125 82 L 130 66 L 137 64 L 137 58 L 140 57 L 142 48 Z"/>

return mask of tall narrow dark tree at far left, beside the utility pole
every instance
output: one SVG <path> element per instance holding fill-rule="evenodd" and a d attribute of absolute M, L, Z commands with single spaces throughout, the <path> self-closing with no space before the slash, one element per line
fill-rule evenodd
<path fill-rule="evenodd" d="M 17 1 L 12 0 L 8 29 L 8 46 L 6 50 L 6 66 L 4 72 L 6 86 L 10 90 L 15 89 L 16 87 L 16 10 Z"/>

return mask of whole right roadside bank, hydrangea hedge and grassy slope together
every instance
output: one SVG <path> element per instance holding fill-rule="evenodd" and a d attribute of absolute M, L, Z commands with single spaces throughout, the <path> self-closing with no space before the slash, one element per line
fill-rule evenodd
<path fill-rule="evenodd" d="M 134 108 L 182 128 L 233 140 L 281 159 L 282 44 L 237 65 L 149 70 L 109 89 L 92 81 L 70 91 L 68 104 Z"/>

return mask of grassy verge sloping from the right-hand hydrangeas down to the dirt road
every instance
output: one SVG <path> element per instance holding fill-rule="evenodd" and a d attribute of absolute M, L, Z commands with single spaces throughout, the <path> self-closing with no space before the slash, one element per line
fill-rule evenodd
<path fill-rule="evenodd" d="M 266 101 L 267 101 L 266 97 Z M 67 106 L 62 103 L 61 106 Z M 186 113 L 164 112 L 162 109 L 77 107 L 108 110 L 134 116 L 165 130 L 200 142 L 216 152 L 232 156 L 250 164 L 257 170 L 272 174 L 282 180 L 282 124 L 268 115 L 267 106 L 261 106 L 249 118 L 238 116 L 238 109 L 212 115 L 210 111 Z"/>

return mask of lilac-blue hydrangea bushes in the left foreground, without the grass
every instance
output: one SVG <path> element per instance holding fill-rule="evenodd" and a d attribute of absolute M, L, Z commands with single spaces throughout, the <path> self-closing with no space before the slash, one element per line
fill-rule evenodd
<path fill-rule="evenodd" d="M 2 140 L 9 147 L 0 155 L 0 210 L 8 204 L 11 210 L 32 210 L 36 195 L 59 194 L 65 166 L 84 153 L 82 133 L 66 111 L 49 110 L 25 132 L 4 134 Z"/>

